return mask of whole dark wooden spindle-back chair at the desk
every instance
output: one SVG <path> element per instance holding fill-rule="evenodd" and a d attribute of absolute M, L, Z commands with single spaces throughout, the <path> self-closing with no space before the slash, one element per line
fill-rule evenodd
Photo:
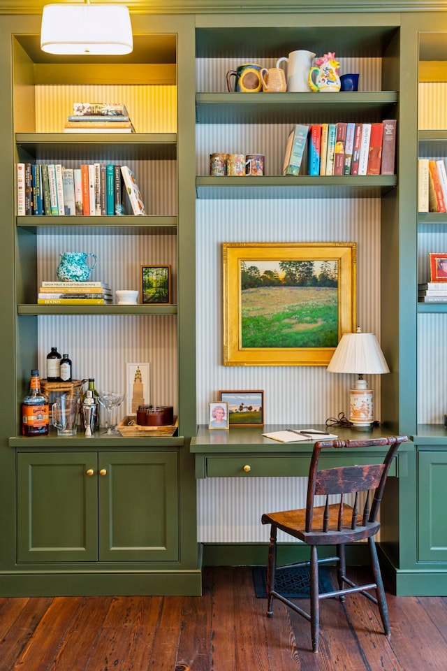
<path fill-rule="evenodd" d="M 380 522 L 376 518 L 390 464 L 397 452 L 397 448 L 406 440 L 408 440 L 406 436 L 399 435 L 370 440 L 320 440 L 316 442 L 309 468 L 306 507 L 302 510 L 265 513 L 262 516 L 262 523 L 271 525 L 267 567 L 267 615 L 268 617 L 272 617 L 273 599 L 277 598 L 309 620 L 311 623 L 312 650 L 314 652 L 318 651 L 320 628 L 319 606 L 321 599 L 338 596 L 341 601 L 344 601 L 346 594 L 360 592 L 379 605 L 383 628 L 386 635 L 390 633 L 388 607 L 386 605 L 385 591 L 377 559 L 374 535 L 376 535 L 380 528 Z M 365 448 L 379 445 L 390 445 L 383 463 L 368 466 L 340 466 L 318 470 L 318 459 L 320 458 L 322 449 L 328 447 Z M 362 498 L 365 498 L 365 505 L 363 505 L 360 511 L 359 495 L 361 492 L 365 492 L 362 496 Z M 344 495 L 346 494 L 353 495 L 353 505 L 345 503 Z M 323 505 L 315 505 L 315 496 L 318 495 L 325 496 Z M 331 497 L 331 501 L 334 498 L 337 499 L 337 503 L 331 503 L 329 497 Z M 301 609 L 293 601 L 282 596 L 274 589 L 275 573 L 277 570 L 278 529 L 302 540 L 311 548 L 310 561 L 300 561 L 287 565 L 287 568 L 310 567 L 310 613 Z M 359 586 L 346 577 L 344 546 L 346 543 L 365 539 L 368 541 L 374 582 Z M 318 545 L 335 545 L 337 547 L 337 556 L 318 559 Z M 319 593 L 318 565 L 334 562 L 337 562 L 339 589 L 328 593 Z M 280 569 L 281 567 L 278 567 L 278 570 Z M 376 597 L 369 593 L 372 589 L 376 589 Z"/>

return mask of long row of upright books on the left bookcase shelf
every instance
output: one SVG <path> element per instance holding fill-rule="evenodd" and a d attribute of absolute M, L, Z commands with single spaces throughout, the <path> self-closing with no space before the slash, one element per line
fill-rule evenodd
<path fill-rule="evenodd" d="M 146 213 L 129 166 L 95 163 L 66 168 L 61 164 L 17 164 L 19 216 L 123 215 L 128 211 L 134 215 Z"/>

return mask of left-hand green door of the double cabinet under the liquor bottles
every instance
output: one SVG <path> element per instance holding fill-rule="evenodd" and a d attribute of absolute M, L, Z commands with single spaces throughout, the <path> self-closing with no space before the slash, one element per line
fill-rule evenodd
<path fill-rule="evenodd" d="M 96 454 L 17 455 L 18 561 L 96 561 Z"/>

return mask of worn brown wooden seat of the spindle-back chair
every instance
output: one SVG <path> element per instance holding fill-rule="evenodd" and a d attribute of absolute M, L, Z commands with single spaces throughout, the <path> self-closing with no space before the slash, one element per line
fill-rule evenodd
<path fill-rule="evenodd" d="M 305 531 L 306 509 L 299 510 L 281 510 L 280 512 L 265 513 L 262 517 L 263 524 L 274 524 L 277 528 L 288 533 L 299 540 L 305 541 L 309 545 L 335 545 L 337 543 L 349 543 L 356 540 L 368 538 L 379 531 L 380 522 L 367 522 L 362 525 L 362 515 L 357 515 L 357 526 L 352 529 L 353 508 L 350 505 L 344 505 L 343 527 L 338 530 L 339 504 L 334 503 L 328 506 L 328 531 L 323 531 L 323 514 L 325 506 L 314 507 L 314 519 L 312 531 Z"/>

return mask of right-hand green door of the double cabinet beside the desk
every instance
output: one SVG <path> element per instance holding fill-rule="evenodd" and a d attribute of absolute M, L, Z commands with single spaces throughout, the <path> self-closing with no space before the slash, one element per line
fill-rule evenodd
<path fill-rule="evenodd" d="M 177 452 L 98 459 L 100 561 L 177 561 Z"/>

